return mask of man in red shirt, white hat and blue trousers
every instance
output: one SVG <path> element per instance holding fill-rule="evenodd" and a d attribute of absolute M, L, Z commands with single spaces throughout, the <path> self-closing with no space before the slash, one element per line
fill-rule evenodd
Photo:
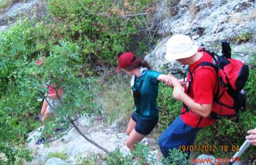
<path fill-rule="evenodd" d="M 178 80 L 173 75 L 169 76 L 170 87 L 173 87 L 173 96 L 183 102 L 181 114 L 173 121 L 158 138 L 158 143 L 166 158 L 169 150 L 179 149 L 182 146 L 194 145 L 195 136 L 202 127 L 215 123 L 211 119 L 211 107 L 215 93 L 217 79 L 212 67 L 200 66 L 201 62 L 211 62 L 210 54 L 198 51 L 198 47 L 192 43 L 189 36 L 174 35 L 166 44 L 165 58 L 169 61 L 189 65 L 189 74 L 186 82 Z M 191 75 L 192 74 L 192 75 Z M 190 80 L 193 77 L 193 80 Z M 182 85 L 184 84 L 184 87 Z M 190 151 L 186 152 L 189 158 Z"/>

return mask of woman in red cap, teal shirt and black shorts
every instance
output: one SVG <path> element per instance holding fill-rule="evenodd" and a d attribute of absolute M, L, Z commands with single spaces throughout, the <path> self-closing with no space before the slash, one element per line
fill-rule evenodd
<path fill-rule="evenodd" d="M 168 76 L 150 70 L 147 61 L 139 59 L 135 54 L 126 52 L 119 57 L 117 72 L 122 69 L 132 75 L 130 86 L 134 95 L 135 109 L 130 118 L 126 133 L 126 146 L 133 150 L 136 143 L 147 136 L 158 123 L 158 82 L 168 82 Z"/>

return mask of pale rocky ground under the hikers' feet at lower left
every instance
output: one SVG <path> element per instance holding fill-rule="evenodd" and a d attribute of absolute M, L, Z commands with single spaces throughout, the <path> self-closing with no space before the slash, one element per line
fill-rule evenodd
<path fill-rule="evenodd" d="M 93 124 L 90 124 L 90 120 L 94 121 Z M 124 154 L 129 152 L 129 149 L 124 145 L 127 138 L 125 132 L 119 133 L 118 129 L 105 127 L 104 122 L 97 119 L 97 117 L 93 117 L 92 119 L 84 117 L 79 119 L 79 124 L 79 127 L 85 135 L 108 151 L 114 151 L 116 148 L 119 148 Z M 40 129 L 35 130 L 28 135 L 28 149 L 34 154 L 33 161 L 28 164 L 77 164 L 83 158 L 88 158 L 92 156 L 92 154 L 105 154 L 92 143 L 85 140 L 74 128 L 59 140 L 49 143 L 49 147 L 43 144 L 35 145 L 36 140 L 40 137 L 39 130 Z M 146 138 L 142 143 L 148 143 L 148 141 L 150 140 Z M 61 153 L 65 155 L 67 159 L 65 161 L 59 161 L 59 159 L 56 158 L 48 158 L 50 154 L 54 153 Z"/>

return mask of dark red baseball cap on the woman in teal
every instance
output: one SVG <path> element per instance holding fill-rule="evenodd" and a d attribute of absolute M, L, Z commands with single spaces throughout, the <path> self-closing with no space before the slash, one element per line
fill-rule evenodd
<path fill-rule="evenodd" d="M 136 64 L 139 61 L 139 58 L 131 52 L 125 52 L 119 57 L 118 67 L 116 72 L 119 72 L 121 68 L 130 67 Z"/>

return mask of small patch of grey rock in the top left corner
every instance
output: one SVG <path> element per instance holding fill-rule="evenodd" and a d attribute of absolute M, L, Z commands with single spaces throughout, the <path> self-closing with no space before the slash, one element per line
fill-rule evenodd
<path fill-rule="evenodd" d="M 19 17 L 28 16 L 29 19 L 41 19 L 46 13 L 45 4 L 40 0 L 32 1 L 12 1 L 9 8 L 0 11 L 0 32 L 7 30 L 9 25 L 14 23 Z"/>

